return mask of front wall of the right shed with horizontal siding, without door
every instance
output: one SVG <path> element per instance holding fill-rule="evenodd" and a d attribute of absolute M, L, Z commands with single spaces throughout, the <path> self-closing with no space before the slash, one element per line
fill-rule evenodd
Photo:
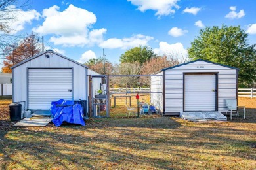
<path fill-rule="evenodd" d="M 219 72 L 219 111 L 226 110 L 224 99 L 236 99 L 236 69 L 197 61 L 165 71 L 165 112 L 183 111 L 183 73 Z"/>

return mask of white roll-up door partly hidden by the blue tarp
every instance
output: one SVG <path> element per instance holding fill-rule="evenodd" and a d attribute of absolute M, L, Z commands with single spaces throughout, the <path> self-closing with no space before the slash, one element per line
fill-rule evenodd
<path fill-rule="evenodd" d="M 28 69 L 28 109 L 50 109 L 51 101 L 72 100 L 72 69 Z"/>

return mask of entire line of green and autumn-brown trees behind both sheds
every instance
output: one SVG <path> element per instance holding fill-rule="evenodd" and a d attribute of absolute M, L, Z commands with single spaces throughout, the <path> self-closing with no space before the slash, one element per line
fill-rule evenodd
<path fill-rule="evenodd" d="M 39 36 L 35 33 L 25 38 L 12 35 L 9 22 L 14 18 L 11 14 L 16 8 L 26 7 L 27 2 L 17 5 L 17 0 L 0 1 L 0 50 L 3 59 L 3 73 L 11 73 L 10 67 L 24 59 L 41 52 Z M 12 6 L 10 6 L 12 5 Z M 15 7 L 13 5 L 16 5 Z M 10 8 L 12 7 L 12 8 Z M 14 9 L 13 9 L 14 7 Z M 188 48 L 188 59 L 179 59 L 176 55 L 165 54 L 158 56 L 148 46 L 131 48 L 121 54 L 119 64 L 106 60 L 107 75 L 150 75 L 163 68 L 171 67 L 185 61 L 206 59 L 232 67 L 238 67 L 239 87 L 256 87 L 256 44 L 249 44 L 248 33 L 238 26 L 205 27 L 191 42 Z M 87 65 L 90 69 L 103 74 L 103 58 L 90 59 Z M 112 78 L 112 86 L 138 87 L 149 86 L 148 77 Z"/>

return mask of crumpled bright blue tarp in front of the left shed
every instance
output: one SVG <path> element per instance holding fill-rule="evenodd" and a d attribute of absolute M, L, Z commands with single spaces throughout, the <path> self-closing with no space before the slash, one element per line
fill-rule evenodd
<path fill-rule="evenodd" d="M 52 101 L 50 110 L 53 114 L 53 124 L 57 127 L 60 126 L 63 121 L 85 126 L 83 107 L 80 104 L 74 105 L 74 101 L 65 101 L 64 99 Z"/>

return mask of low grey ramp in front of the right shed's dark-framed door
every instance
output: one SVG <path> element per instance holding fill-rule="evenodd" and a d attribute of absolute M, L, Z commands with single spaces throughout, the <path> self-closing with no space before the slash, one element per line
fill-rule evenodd
<path fill-rule="evenodd" d="M 180 112 L 180 117 L 193 122 L 205 122 L 207 120 L 226 121 L 227 118 L 221 112 Z"/>

